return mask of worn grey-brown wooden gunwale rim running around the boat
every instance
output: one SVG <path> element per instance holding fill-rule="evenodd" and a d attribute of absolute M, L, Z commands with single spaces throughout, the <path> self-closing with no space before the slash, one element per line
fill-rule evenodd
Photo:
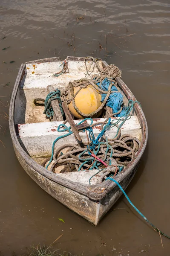
<path fill-rule="evenodd" d="M 67 60 L 72 60 L 72 61 L 83 61 L 83 57 L 71 57 L 68 56 L 66 58 Z M 17 79 L 14 84 L 14 89 L 12 92 L 12 97 L 11 97 L 11 102 L 10 102 L 10 108 L 9 108 L 9 128 L 10 128 L 10 133 L 12 137 L 12 142 L 14 145 L 14 148 L 18 151 L 18 153 L 23 157 L 23 159 L 26 161 L 26 163 L 32 167 L 36 172 L 38 172 L 40 175 L 43 175 L 44 177 L 52 180 L 55 183 L 61 184 L 62 186 L 65 186 L 69 189 L 72 189 L 80 194 L 86 195 L 88 198 L 90 198 L 93 201 L 100 201 L 102 198 L 106 196 L 106 194 L 112 190 L 116 184 L 113 183 L 111 180 L 105 180 L 103 183 L 96 184 L 96 185 L 86 185 L 82 183 L 77 183 L 71 180 L 68 180 L 66 178 L 62 178 L 59 175 L 56 175 L 54 173 L 51 173 L 47 171 L 43 166 L 35 162 L 27 153 L 24 151 L 22 146 L 20 145 L 18 139 L 17 139 L 17 134 L 15 130 L 15 125 L 14 125 L 14 107 L 15 107 L 15 99 L 17 96 L 17 91 L 20 86 L 20 82 L 23 79 L 23 76 L 25 75 L 25 68 L 27 63 L 43 63 L 43 62 L 51 62 L 51 61 L 59 61 L 61 60 L 60 57 L 54 57 L 54 58 L 46 58 L 46 59 L 41 59 L 41 60 L 35 60 L 35 61 L 29 61 L 26 62 L 25 64 L 21 64 L 20 70 L 17 75 Z M 89 59 L 90 60 L 90 59 Z M 108 64 L 103 61 L 102 62 L 103 67 L 106 67 Z M 125 95 L 127 96 L 127 99 L 135 99 L 135 96 L 133 93 L 130 91 L 130 89 L 127 87 L 127 85 L 121 80 L 121 78 L 116 78 L 116 81 L 119 85 L 119 87 L 123 90 Z M 120 183 L 121 180 L 123 180 L 130 172 L 133 171 L 135 166 L 139 163 L 141 156 L 144 152 L 144 149 L 146 148 L 147 145 L 147 137 L 148 137 L 148 130 L 147 130 L 147 122 L 144 116 L 144 112 L 141 109 L 141 105 L 136 103 L 134 105 L 134 110 L 135 113 L 138 117 L 138 120 L 141 124 L 141 129 L 142 129 L 142 140 L 141 140 L 141 146 L 135 155 L 135 158 L 133 159 L 132 162 L 126 166 L 126 168 L 118 174 L 115 179 Z"/>

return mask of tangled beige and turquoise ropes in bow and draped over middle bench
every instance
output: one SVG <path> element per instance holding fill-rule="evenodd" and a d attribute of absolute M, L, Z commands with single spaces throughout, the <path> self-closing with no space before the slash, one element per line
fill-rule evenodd
<path fill-rule="evenodd" d="M 64 124 L 59 125 L 59 132 L 68 131 L 68 133 L 58 137 L 54 141 L 52 145 L 52 157 L 50 159 L 46 159 L 42 165 L 45 166 L 49 161 L 46 165 L 47 169 L 52 163 L 50 167 L 51 172 L 55 172 L 55 168 L 58 166 L 65 166 L 65 170 L 67 170 L 67 172 L 69 170 L 79 172 L 92 169 L 96 169 L 99 172 L 103 171 L 100 182 L 102 182 L 103 178 L 106 178 L 111 172 L 114 173 L 115 177 L 118 172 L 121 172 L 121 170 L 133 160 L 138 148 L 140 147 L 140 141 L 137 138 L 132 137 L 130 134 L 121 135 L 121 126 L 127 118 L 130 117 L 130 113 L 136 102 L 137 101 L 134 102 L 132 100 L 129 101 L 129 108 L 125 117 L 111 120 L 111 117 L 116 114 L 113 113 L 104 122 L 99 121 L 93 123 L 91 118 L 82 120 L 79 124 L 90 120 L 89 128 L 86 128 L 87 143 L 84 143 L 83 147 L 75 145 L 75 143 L 65 143 L 55 148 L 55 143 L 58 140 L 73 133 L 70 127 L 67 127 Z M 98 125 L 101 125 L 101 132 L 95 139 L 93 127 Z M 118 130 L 115 137 L 109 139 L 105 133 L 113 126 L 117 127 Z M 64 149 L 67 149 L 67 151 L 63 154 L 62 150 Z"/>

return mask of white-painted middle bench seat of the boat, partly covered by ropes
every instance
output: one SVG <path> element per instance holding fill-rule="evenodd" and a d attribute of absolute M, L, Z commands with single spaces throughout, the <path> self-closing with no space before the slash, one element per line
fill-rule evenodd
<path fill-rule="evenodd" d="M 114 122 L 118 120 L 120 117 L 114 118 Z M 105 118 L 100 119 L 101 122 L 105 121 Z M 86 122 L 78 125 L 80 120 L 74 120 L 76 128 L 81 130 L 81 140 L 83 143 L 86 143 L 87 137 L 86 132 L 82 131 L 83 129 L 89 127 L 91 121 L 86 120 Z M 21 144 L 25 146 L 26 150 L 28 151 L 31 157 L 38 157 L 38 156 L 49 156 L 51 154 L 52 149 L 52 142 L 60 137 L 62 134 L 67 134 L 66 132 L 58 132 L 58 127 L 63 122 L 44 122 L 42 123 L 31 123 L 31 124 L 19 124 L 18 125 L 18 134 L 17 136 L 20 137 Z M 94 119 L 93 124 L 98 123 L 98 120 Z M 101 132 L 101 125 L 96 125 L 92 127 L 93 133 L 95 138 L 98 137 L 98 134 Z M 106 131 L 105 135 L 108 139 L 112 139 L 115 137 L 117 133 L 117 128 L 112 126 L 109 131 Z M 130 119 L 124 122 L 124 125 L 121 129 L 121 135 L 123 134 L 130 134 L 133 137 L 136 137 L 138 140 L 141 140 L 141 125 L 139 124 L 138 117 L 132 116 Z M 34 138 L 34 140 L 32 140 Z M 59 147 L 63 145 L 63 143 L 74 143 L 77 144 L 77 140 L 74 134 L 69 135 L 69 137 L 63 138 L 58 140 L 56 146 Z"/>

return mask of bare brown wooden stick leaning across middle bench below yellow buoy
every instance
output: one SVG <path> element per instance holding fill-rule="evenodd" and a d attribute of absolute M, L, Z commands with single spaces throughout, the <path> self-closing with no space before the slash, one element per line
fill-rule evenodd
<path fill-rule="evenodd" d="M 79 134 L 79 132 L 78 132 L 78 129 L 77 129 L 76 126 L 75 126 L 75 122 L 74 122 L 74 120 L 72 119 L 72 115 L 71 115 L 71 113 L 69 112 L 69 109 L 68 109 L 68 107 L 67 107 L 67 105 L 66 105 L 66 102 L 62 102 L 62 107 L 63 107 L 63 111 L 64 111 L 64 113 L 65 113 L 65 115 L 66 115 L 66 119 L 67 119 L 67 121 L 69 122 L 69 124 L 70 124 L 70 126 L 71 126 L 71 128 L 72 128 L 72 131 L 73 131 L 73 133 L 74 133 L 76 139 L 78 140 L 78 143 L 82 143 L 80 134 Z"/>

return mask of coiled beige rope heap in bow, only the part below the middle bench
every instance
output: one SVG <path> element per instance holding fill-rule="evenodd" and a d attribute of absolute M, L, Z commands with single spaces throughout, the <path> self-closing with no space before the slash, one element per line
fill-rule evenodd
<path fill-rule="evenodd" d="M 79 145 L 75 145 L 75 143 L 66 143 L 55 148 L 54 162 L 50 170 L 55 172 L 55 168 L 58 166 L 72 163 L 78 172 L 92 169 L 103 170 L 105 166 L 113 166 L 109 172 L 117 172 L 120 167 L 127 166 L 133 160 L 139 145 L 138 139 L 131 137 L 129 134 L 122 135 L 112 143 L 109 143 L 108 139 L 106 142 L 101 141 L 98 145 L 95 145 L 93 150 L 90 150 L 88 144 L 84 144 L 84 148 L 82 148 Z M 61 154 L 64 148 L 69 149 L 66 153 Z M 103 162 L 106 164 L 105 166 Z"/>

